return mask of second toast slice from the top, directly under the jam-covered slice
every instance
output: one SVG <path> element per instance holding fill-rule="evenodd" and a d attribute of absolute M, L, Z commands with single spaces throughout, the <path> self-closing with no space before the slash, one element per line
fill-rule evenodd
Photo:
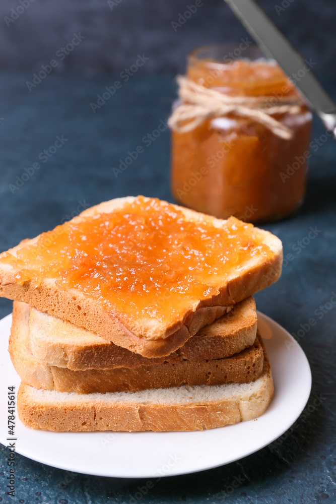
<path fill-rule="evenodd" d="M 166 357 L 149 359 L 107 342 L 101 336 L 58 317 L 14 301 L 13 329 L 29 318 L 29 339 L 33 355 L 41 362 L 73 371 L 138 367 L 173 360 L 223 359 L 253 345 L 257 316 L 255 301 L 249 297 L 212 324 L 200 329 L 182 347 Z"/>

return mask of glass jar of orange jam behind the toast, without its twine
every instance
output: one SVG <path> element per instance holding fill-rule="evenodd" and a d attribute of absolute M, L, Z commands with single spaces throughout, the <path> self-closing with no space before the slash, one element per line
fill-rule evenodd
<path fill-rule="evenodd" d="M 192 51 L 186 78 L 230 99 L 242 97 L 247 106 L 251 97 L 262 103 L 260 110 L 266 103 L 268 115 L 290 134 L 284 138 L 239 108 L 210 112 L 190 131 L 172 125 L 173 195 L 184 206 L 224 219 L 278 220 L 303 201 L 312 115 L 275 61 L 256 46 L 240 50 L 239 58 L 235 53 L 228 46 Z"/>

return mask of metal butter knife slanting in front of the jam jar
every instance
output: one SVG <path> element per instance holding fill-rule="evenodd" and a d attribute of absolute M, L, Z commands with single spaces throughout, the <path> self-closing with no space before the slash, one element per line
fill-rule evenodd
<path fill-rule="evenodd" d="M 300 54 L 289 43 L 255 0 L 225 0 L 241 24 L 267 57 L 277 61 L 282 70 L 336 138 L 336 104 L 318 82 L 311 70 L 306 70 Z M 298 75 L 300 78 L 293 78 Z M 301 77 L 302 76 L 302 77 Z"/>

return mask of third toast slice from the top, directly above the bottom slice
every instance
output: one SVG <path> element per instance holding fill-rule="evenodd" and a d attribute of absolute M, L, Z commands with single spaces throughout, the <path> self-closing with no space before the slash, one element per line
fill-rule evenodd
<path fill-rule="evenodd" d="M 38 361 L 30 351 L 29 324 L 25 313 L 22 313 L 21 318 L 16 318 L 12 326 L 9 352 L 23 383 L 36 388 L 78 394 L 127 392 L 180 385 L 246 383 L 258 379 L 263 367 L 263 351 L 258 337 L 252 346 L 226 359 L 183 359 L 135 368 L 84 371 L 49 366 Z"/>

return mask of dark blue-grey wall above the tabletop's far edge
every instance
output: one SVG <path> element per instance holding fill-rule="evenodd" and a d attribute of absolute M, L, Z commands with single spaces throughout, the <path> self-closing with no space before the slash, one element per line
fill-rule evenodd
<path fill-rule="evenodd" d="M 21 0 L 26 5 L 28 1 Z M 334 0 L 258 3 L 296 50 L 316 61 L 314 71 L 336 75 Z M 223 0 L 200 0 L 197 5 L 195 0 L 34 0 L 22 9 L 20 2 L 2 0 L 0 68 L 39 72 L 71 43 L 74 33 L 81 33 L 85 37 L 81 44 L 58 60 L 53 73 L 119 73 L 135 62 L 138 53 L 149 57 L 145 73 L 181 72 L 185 54 L 195 47 L 235 43 L 247 36 Z M 17 6 L 24 12 L 19 16 L 14 12 L 17 19 L 10 20 Z"/>

